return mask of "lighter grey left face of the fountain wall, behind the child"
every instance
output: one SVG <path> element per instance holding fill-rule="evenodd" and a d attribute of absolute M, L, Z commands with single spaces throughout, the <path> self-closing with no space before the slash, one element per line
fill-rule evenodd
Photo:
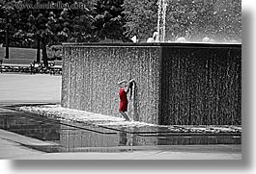
<path fill-rule="evenodd" d="M 134 78 L 128 116 L 158 124 L 159 46 L 65 45 L 64 57 L 63 107 L 120 116 L 117 83 Z"/>

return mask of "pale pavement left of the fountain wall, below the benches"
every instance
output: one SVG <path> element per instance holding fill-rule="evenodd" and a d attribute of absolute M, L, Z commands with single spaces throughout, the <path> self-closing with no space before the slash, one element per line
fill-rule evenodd
<path fill-rule="evenodd" d="M 0 104 L 60 103 L 61 76 L 0 73 Z"/>

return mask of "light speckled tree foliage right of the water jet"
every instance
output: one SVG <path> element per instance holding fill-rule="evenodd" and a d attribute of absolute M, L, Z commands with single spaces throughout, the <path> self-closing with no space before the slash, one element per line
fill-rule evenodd
<path fill-rule="evenodd" d="M 242 37 L 241 0 L 169 1 L 166 13 L 167 39 L 186 37 L 201 41 L 210 37 L 229 41 Z"/>

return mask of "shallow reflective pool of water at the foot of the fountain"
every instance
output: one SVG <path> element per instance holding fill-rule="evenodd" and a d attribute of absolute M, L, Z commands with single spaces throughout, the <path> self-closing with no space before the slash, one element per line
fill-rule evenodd
<path fill-rule="evenodd" d="M 31 146 L 44 152 L 123 152 L 138 146 L 242 143 L 240 134 L 193 135 L 174 133 L 168 127 L 95 126 L 14 111 L 1 112 L 0 129 L 58 144 Z"/>

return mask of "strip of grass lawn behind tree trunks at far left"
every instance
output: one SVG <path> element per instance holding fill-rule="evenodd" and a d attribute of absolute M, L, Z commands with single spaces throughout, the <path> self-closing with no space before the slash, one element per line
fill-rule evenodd
<path fill-rule="evenodd" d="M 6 48 L 0 47 L 0 59 L 4 59 L 6 55 Z M 37 60 L 37 49 L 32 48 L 9 48 L 10 59 L 27 59 L 31 61 Z"/>

